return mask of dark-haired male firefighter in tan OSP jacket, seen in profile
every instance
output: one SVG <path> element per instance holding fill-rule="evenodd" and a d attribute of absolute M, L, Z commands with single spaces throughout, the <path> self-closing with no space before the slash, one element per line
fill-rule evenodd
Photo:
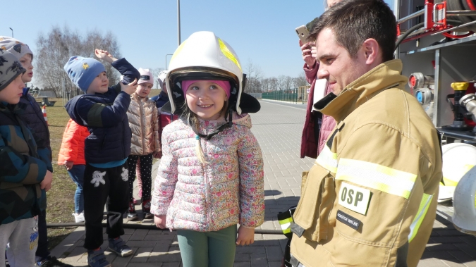
<path fill-rule="evenodd" d="M 293 266 L 417 266 L 441 181 L 439 135 L 393 60 L 396 21 L 381 0 L 343 1 L 314 25 L 315 104 L 337 125 L 307 177 L 291 227 Z"/>

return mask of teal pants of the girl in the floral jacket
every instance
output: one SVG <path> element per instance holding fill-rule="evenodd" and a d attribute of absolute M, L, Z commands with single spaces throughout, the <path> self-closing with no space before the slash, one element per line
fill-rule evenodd
<path fill-rule="evenodd" d="M 232 267 L 236 225 L 214 232 L 177 230 L 183 267 Z"/>

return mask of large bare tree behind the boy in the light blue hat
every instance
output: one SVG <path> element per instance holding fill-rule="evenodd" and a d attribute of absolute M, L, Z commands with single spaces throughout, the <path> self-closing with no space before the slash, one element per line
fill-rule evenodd
<path fill-rule="evenodd" d="M 61 95 L 62 84 L 64 82 L 66 92 L 71 92 L 72 96 L 79 93 L 73 85 L 63 66 L 71 56 L 94 57 L 94 49 L 104 49 L 109 51 L 114 57 L 121 58 L 116 37 L 107 32 L 102 35 L 96 30 L 87 32 L 85 38 L 78 32 L 71 31 L 68 26 L 52 27 L 47 35 L 40 33 L 37 39 L 37 54 L 35 54 L 35 69 L 38 82 L 43 87 L 52 88 L 56 96 Z M 109 63 L 102 61 L 109 78 L 109 85 L 118 82 L 117 70 Z"/>

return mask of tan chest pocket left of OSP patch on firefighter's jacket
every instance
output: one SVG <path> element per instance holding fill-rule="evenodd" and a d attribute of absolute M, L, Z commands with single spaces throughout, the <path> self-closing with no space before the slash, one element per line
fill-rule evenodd
<path fill-rule="evenodd" d="M 334 178 L 329 170 L 315 164 L 307 175 L 303 175 L 303 180 L 304 186 L 291 230 L 314 242 L 327 240 L 329 213 L 334 202 Z"/>

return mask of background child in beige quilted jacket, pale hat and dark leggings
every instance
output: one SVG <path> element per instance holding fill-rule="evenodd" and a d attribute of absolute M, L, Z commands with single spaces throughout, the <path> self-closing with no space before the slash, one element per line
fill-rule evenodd
<path fill-rule="evenodd" d="M 133 198 L 135 164 L 140 159 L 140 176 L 142 180 L 142 213 L 144 218 L 152 218 L 150 213 L 150 191 L 152 187 L 152 157 L 160 152 L 159 112 L 155 102 L 149 100 L 150 89 L 154 86 L 154 76 L 148 69 L 139 68 L 140 80 L 135 93 L 130 95 L 127 111 L 129 127 L 132 132 L 130 142 L 129 168 L 129 209 L 128 219 L 137 220 Z"/>

